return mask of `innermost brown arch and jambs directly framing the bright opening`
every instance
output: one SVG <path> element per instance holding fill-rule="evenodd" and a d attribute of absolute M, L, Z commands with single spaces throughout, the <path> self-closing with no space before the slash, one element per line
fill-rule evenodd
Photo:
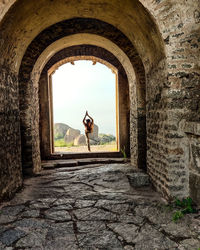
<path fill-rule="evenodd" d="M 39 99 L 40 99 L 40 141 L 41 141 L 41 156 L 42 159 L 52 159 L 57 156 L 53 156 L 50 152 L 52 130 L 50 128 L 51 112 L 48 104 L 47 97 L 49 96 L 49 74 L 52 73 L 58 66 L 62 65 L 70 60 L 80 60 L 86 58 L 91 60 L 97 60 L 106 66 L 110 67 L 117 73 L 118 78 L 118 93 L 119 93 L 119 144 L 121 148 L 126 149 L 126 153 L 130 155 L 130 98 L 129 98 L 129 82 L 126 76 L 126 72 L 119 62 L 119 60 L 109 51 L 104 48 L 93 45 L 77 45 L 65 48 L 57 52 L 45 65 L 40 81 L 39 81 Z M 53 70 L 52 70 L 53 68 Z M 103 155 L 103 154 L 102 154 Z M 80 155 L 82 156 L 82 155 Z M 79 156 L 79 157 L 80 157 Z M 68 157 L 64 155 L 63 157 Z"/>

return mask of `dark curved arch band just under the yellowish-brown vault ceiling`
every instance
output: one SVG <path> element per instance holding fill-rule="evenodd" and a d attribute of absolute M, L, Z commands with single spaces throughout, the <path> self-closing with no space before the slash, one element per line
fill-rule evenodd
<path fill-rule="evenodd" d="M 23 57 L 19 79 L 26 81 L 30 78 L 34 64 L 48 46 L 63 37 L 76 33 L 95 34 L 107 38 L 128 55 L 136 72 L 143 69 L 142 61 L 130 40 L 114 26 L 96 19 L 74 18 L 50 26 L 32 41 Z"/>

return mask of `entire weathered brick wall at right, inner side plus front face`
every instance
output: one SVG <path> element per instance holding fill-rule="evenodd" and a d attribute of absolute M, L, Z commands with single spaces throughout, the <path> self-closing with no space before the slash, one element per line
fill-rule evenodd
<path fill-rule="evenodd" d="M 191 172 L 196 161 L 191 163 L 189 153 L 191 145 L 198 151 L 197 138 L 187 136 L 184 127 L 187 121 L 199 124 L 200 2 L 152 1 L 148 9 L 159 25 L 167 56 L 159 71 L 147 74 L 148 172 L 167 196 L 183 197 L 197 192 L 199 185 Z M 196 184 L 190 181 L 189 191 L 191 175 Z"/>

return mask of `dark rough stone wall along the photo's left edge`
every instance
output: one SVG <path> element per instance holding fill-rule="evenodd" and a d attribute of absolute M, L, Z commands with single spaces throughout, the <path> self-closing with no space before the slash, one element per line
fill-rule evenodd
<path fill-rule="evenodd" d="M 18 81 L 0 67 L 0 200 L 22 185 Z"/>

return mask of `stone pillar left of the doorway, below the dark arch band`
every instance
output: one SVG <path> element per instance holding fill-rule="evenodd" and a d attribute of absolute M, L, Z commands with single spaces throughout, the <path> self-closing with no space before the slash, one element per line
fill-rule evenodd
<path fill-rule="evenodd" d="M 41 170 L 38 85 L 26 77 L 26 71 L 20 74 L 19 82 L 22 168 L 29 175 Z"/>

